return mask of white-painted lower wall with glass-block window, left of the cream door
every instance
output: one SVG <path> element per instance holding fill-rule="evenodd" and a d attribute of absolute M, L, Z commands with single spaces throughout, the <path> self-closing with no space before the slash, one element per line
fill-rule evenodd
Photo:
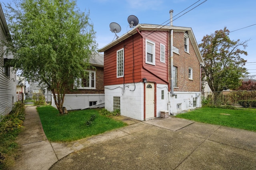
<path fill-rule="evenodd" d="M 113 111 L 113 97 L 119 96 L 121 115 L 144 120 L 144 83 L 136 83 L 135 86 L 134 84 L 105 86 L 105 109 Z"/>

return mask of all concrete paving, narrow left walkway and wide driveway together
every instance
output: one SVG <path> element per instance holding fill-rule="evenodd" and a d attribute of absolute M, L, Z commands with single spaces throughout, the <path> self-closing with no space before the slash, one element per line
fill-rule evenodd
<path fill-rule="evenodd" d="M 256 133 L 176 117 L 136 121 L 70 143 L 50 143 L 36 108 L 27 107 L 13 170 L 256 170 Z M 56 162 L 56 163 L 55 163 Z"/>

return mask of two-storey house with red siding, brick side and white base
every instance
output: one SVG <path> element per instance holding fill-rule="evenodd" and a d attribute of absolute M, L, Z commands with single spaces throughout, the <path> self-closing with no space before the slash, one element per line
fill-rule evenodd
<path fill-rule="evenodd" d="M 138 24 L 98 51 L 106 109 L 146 120 L 200 107 L 204 62 L 191 28 Z"/>

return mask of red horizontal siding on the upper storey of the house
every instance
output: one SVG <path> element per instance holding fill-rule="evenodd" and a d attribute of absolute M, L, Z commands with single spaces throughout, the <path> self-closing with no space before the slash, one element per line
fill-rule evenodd
<path fill-rule="evenodd" d="M 168 81 L 168 31 L 155 31 L 148 34 L 142 31 L 104 52 L 104 85 L 142 82 L 146 77 L 149 82 L 166 84 Z M 156 65 L 145 63 L 145 38 L 156 44 Z M 143 45 L 142 45 L 143 43 Z M 165 63 L 160 62 L 160 43 L 165 45 Z M 124 48 L 124 77 L 116 78 L 116 51 Z M 145 69 L 144 69 L 145 68 Z M 134 77 L 133 77 L 134 76 Z"/>

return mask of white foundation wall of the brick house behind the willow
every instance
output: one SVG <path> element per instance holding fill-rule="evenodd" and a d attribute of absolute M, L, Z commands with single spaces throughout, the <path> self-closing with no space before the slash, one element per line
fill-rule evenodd
<path fill-rule="evenodd" d="M 104 94 L 66 94 L 63 107 L 67 110 L 86 109 L 90 102 L 97 102 L 96 107 L 104 107 Z M 57 108 L 52 95 L 52 106 Z"/>

